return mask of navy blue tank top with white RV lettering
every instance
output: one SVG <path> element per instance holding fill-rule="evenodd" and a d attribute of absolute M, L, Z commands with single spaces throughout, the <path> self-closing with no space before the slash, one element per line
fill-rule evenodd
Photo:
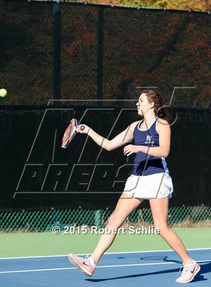
<path fill-rule="evenodd" d="M 144 145 L 149 147 L 159 146 L 159 134 L 156 131 L 157 120 L 156 117 L 154 123 L 148 130 L 141 131 L 141 120 L 135 127 L 133 135 L 135 145 Z M 144 152 L 137 152 L 134 159 L 134 166 L 132 175 L 136 176 L 149 176 L 158 173 L 169 172 L 165 157 L 156 157 Z"/>

